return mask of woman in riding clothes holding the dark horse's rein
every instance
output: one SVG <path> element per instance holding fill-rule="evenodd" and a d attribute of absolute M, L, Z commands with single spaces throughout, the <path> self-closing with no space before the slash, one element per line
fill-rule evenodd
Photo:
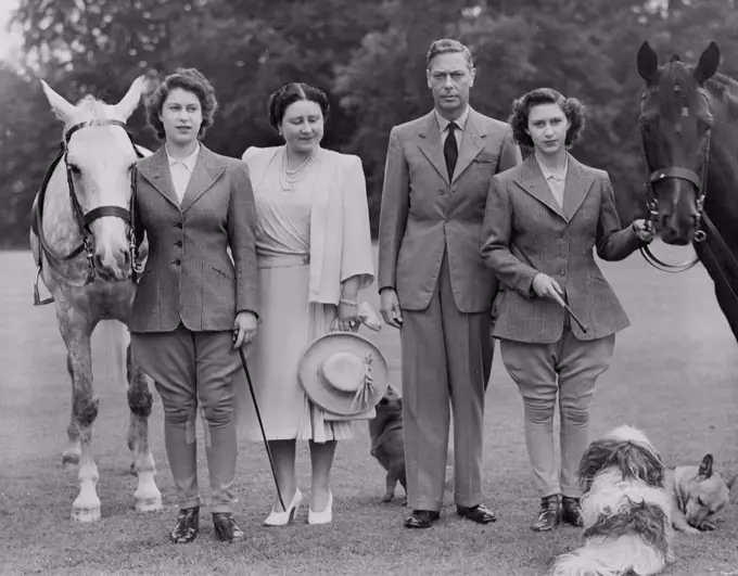
<path fill-rule="evenodd" d="M 500 281 L 493 335 L 523 398 L 540 497 L 531 528 L 547 532 L 560 522 L 582 525 L 577 472 L 589 441 L 595 382 L 610 364 L 615 333 L 629 324 L 593 248 L 602 259 L 620 260 L 652 232 L 645 220 L 621 230 L 608 174 L 567 151 L 584 127 L 577 100 L 534 90 L 514 102 L 510 124 L 516 140 L 534 153 L 492 179 L 481 254 Z"/>

